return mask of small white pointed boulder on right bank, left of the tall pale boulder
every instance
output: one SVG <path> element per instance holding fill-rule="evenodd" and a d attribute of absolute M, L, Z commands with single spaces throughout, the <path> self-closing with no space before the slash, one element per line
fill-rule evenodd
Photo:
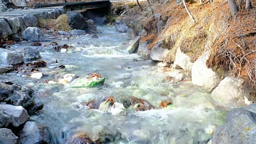
<path fill-rule="evenodd" d="M 180 51 L 180 48 L 177 48 L 175 53 L 175 61 L 173 63 L 173 68 L 182 68 L 184 70 L 192 70 L 193 63 L 190 62 L 190 57 Z"/>

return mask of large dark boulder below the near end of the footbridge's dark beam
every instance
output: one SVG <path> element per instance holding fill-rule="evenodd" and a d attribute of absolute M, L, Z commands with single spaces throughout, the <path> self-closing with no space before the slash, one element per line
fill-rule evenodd
<path fill-rule="evenodd" d="M 72 11 L 66 14 L 68 16 L 68 22 L 71 28 L 76 30 L 84 30 L 86 25 L 86 19 L 78 12 Z"/>

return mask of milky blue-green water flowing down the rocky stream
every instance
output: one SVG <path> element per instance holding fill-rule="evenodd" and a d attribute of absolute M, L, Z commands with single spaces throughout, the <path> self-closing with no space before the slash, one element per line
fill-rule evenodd
<path fill-rule="evenodd" d="M 226 110 L 216 106 L 210 94 L 194 88 L 189 82 L 170 84 L 166 73 L 155 64 L 141 60 L 137 54 L 127 54 L 129 41 L 124 33 L 114 28 L 99 28 L 98 39 L 80 36 L 70 41 L 57 41 L 59 45 L 74 44 L 82 52 L 61 53 L 38 47 L 46 68 L 41 79 L 28 74 L 2 74 L 0 80 L 10 80 L 34 89 L 44 102 L 44 108 L 30 116 L 32 121 L 50 127 L 52 143 L 64 144 L 77 132 L 97 140 L 99 133 L 114 137 L 116 144 L 206 144 L 214 127 L 224 123 Z M 47 42 L 45 42 L 47 43 Z M 50 42 L 48 42 L 50 44 Z M 17 44 L 19 48 L 27 46 Z M 138 59 L 138 61 L 134 61 Z M 58 69 L 51 62 L 58 60 L 66 66 Z M 121 68 L 129 66 L 130 68 Z M 71 88 L 69 84 L 46 84 L 64 74 L 79 77 L 97 72 L 106 78 L 103 86 Z M 129 111 L 125 115 L 112 115 L 89 109 L 83 103 L 104 97 L 129 98 L 135 96 L 148 100 L 158 107 L 163 100 L 172 100 L 164 109 Z"/>

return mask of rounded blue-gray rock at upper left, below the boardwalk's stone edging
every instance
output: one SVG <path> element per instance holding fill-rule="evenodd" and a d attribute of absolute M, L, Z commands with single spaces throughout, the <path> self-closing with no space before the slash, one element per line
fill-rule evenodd
<path fill-rule="evenodd" d="M 42 30 L 39 28 L 35 27 L 28 27 L 24 32 L 22 32 L 22 39 L 23 40 L 31 40 L 33 42 L 38 42 L 38 41 L 44 41 L 44 34 Z"/>

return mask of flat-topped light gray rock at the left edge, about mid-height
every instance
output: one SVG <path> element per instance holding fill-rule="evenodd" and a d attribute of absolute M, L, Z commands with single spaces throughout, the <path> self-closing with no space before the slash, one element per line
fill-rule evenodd
<path fill-rule="evenodd" d="M 0 48 L 0 65 L 2 64 L 21 64 L 23 63 L 23 56 L 18 52 L 14 52 L 12 50 L 6 50 Z"/>

